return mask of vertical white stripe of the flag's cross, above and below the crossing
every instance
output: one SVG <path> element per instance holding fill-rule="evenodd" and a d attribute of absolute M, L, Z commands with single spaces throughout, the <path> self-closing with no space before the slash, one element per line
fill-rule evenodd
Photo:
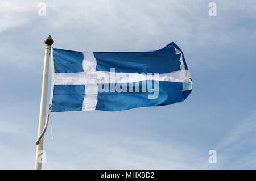
<path fill-rule="evenodd" d="M 97 61 L 94 57 L 93 53 L 82 53 L 84 56 L 84 60 L 82 61 L 82 69 L 84 69 L 83 74 L 95 73 Z M 81 84 L 81 83 L 80 83 Z M 98 102 L 98 85 L 94 84 L 86 84 L 84 91 L 84 101 L 82 103 L 82 111 L 95 110 Z M 73 84 L 74 85 L 74 84 Z M 77 85 L 77 84 L 76 84 Z"/>

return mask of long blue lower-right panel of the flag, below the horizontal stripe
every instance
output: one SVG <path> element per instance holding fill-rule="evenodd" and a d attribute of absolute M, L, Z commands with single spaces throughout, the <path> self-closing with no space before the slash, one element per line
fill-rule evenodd
<path fill-rule="evenodd" d="M 140 90 L 142 90 L 141 86 L 142 82 L 140 82 Z M 159 81 L 158 98 L 148 99 L 148 95 L 154 94 L 154 92 L 110 92 L 109 84 L 109 92 L 98 92 L 98 103 L 96 110 L 121 111 L 136 107 L 163 106 L 167 104 L 182 102 L 185 98 L 187 98 L 184 97 L 182 88 L 183 85 L 179 82 Z M 186 91 L 185 96 L 188 96 L 190 92 Z"/>

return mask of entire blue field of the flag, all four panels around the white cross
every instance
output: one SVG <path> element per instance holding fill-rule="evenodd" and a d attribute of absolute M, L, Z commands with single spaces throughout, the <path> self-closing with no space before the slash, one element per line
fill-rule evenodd
<path fill-rule="evenodd" d="M 166 47 L 149 52 L 97 52 L 94 57 L 97 60 L 96 71 L 110 71 L 123 73 L 169 73 L 180 70 L 180 54 L 175 54 L 175 48 L 181 49 L 170 43 Z M 83 71 L 83 54 L 69 50 L 53 48 L 55 73 L 79 73 Z M 185 69 L 188 70 L 183 56 Z M 139 84 L 137 84 L 139 83 Z M 139 86 L 140 92 L 98 92 L 96 110 L 119 111 L 136 107 L 163 106 L 182 102 L 192 90 L 183 91 L 183 83 L 159 81 L 159 96 L 156 99 L 148 99 L 148 95 L 154 92 L 142 92 L 142 82 L 133 83 Z M 153 87 L 154 87 L 154 82 Z M 85 96 L 86 85 L 55 85 L 53 91 L 52 112 L 81 111 Z"/>

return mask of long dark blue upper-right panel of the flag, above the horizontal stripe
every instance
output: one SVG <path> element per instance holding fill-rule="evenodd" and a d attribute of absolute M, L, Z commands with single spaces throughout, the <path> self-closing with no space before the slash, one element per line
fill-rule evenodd
<path fill-rule="evenodd" d="M 181 49 L 170 43 L 166 47 L 150 52 L 95 52 L 97 71 L 110 71 L 124 73 L 168 73 L 180 70 L 180 54 L 175 54 L 175 48 Z M 185 58 L 183 56 L 185 68 Z"/>

